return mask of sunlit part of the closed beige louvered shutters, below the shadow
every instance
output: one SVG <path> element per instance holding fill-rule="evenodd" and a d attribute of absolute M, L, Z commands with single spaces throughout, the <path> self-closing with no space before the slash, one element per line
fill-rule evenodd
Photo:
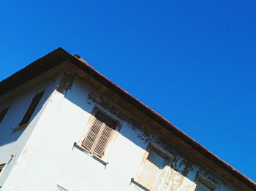
<path fill-rule="evenodd" d="M 100 117 L 100 120 L 93 117 L 93 124 L 82 143 L 84 148 L 99 157 L 102 157 L 104 154 L 113 133 L 113 128 L 110 128 L 105 122 L 102 122 L 104 120 L 105 119 L 102 119 L 102 117 Z"/>

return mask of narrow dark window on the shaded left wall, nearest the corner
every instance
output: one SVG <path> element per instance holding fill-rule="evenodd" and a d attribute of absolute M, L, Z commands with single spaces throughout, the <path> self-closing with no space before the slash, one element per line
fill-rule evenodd
<path fill-rule="evenodd" d="M 26 111 L 26 114 L 24 114 L 23 119 L 20 121 L 19 126 L 26 125 L 29 123 L 29 120 L 34 113 L 34 110 L 37 108 L 37 105 L 39 104 L 40 99 L 42 98 L 42 95 L 45 91 L 42 91 L 40 93 L 37 93 L 34 95 L 34 98 L 31 101 L 31 104 L 29 105 L 28 110 Z"/>

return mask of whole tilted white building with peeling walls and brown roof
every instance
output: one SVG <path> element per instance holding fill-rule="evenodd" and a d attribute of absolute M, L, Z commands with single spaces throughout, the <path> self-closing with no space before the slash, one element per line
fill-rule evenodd
<path fill-rule="evenodd" d="M 256 190 L 61 48 L 0 82 L 0 171 L 1 191 Z"/>

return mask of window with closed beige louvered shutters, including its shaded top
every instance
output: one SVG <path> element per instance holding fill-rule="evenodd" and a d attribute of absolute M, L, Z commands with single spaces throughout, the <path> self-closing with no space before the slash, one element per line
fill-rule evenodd
<path fill-rule="evenodd" d="M 110 141 L 113 131 L 118 123 L 102 112 L 97 112 L 93 117 L 93 124 L 83 140 L 82 147 L 93 155 L 102 157 Z"/>

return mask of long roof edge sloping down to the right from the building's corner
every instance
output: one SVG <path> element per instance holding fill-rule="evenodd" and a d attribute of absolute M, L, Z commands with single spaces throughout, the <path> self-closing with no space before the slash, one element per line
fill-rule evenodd
<path fill-rule="evenodd" d="M 70 56 L 72 56 L 72 55 L 70 55 Z M 225 168 L 225 170 L 229 174 L 235 176 L 241 182 L 244 182 L 247 186 L 256 190 L 256 183 L 252 179 L 249 179 L 244 174 L 241 174 L 241 172 L 236 170 L 236 168 L 233 168 L 233 166 L 227 164 L 224 160 L 217 157 L 217 155 L 214 155 L 212 152 L 210 152 L 208 149 L 206 149 L 206 147 L 203 147 L 201 144 L 199 144 L 197 141 L 195 141 L 194 139 L 189 137 L 182 130 L 179 130 L 178 128 L 176 128 L 176 126 L 173 125 L 168 120 L 166 120 L 165 117 L 162 117 L 160 114 L 155 112 L 153 109 L 146 106 L 146 104 L 143 104 L 137 98 L 130 95 L 127 91 L 123 90 L 121 87 L 116 85 L 114 82 L 110 81 L 110 79 L 108 79 L 107 77 L 100 74 L 96 69 L 94 69 L 92 66 L 90 66 L 89 63 L 87 63 L 86 61 L 83 61 L 83 59 L 80 59 L 80 58 L 77 58 L 74 56 L 70 57 L 69 61 L 72 63 L 75 63 L 76 66 L 78 66 L 80 69 L 86 71 L 86 73 L 90 74 L 91 77 L 94 77 L 94 79 L 96 79 L 98 82 L 102 83 L 103 85 L 108 87 L 110 90 L 112 90 L 114 93 L 121 96 L 121 98 L 124 98 L 126 101 L 128 101 L 129 104 L 132 104 L 132 106 L 135 106 L 135 108 L 139 109 L 141 112 L 148 115 L 148 117 L 151 117 L 153 120 L 155 120 L 157 123 L 159 123 L 159 125 L 162 125 L 167 130 L 169 130 L 171 133 L 178 136 L 178 138 L 182 139 L 190 147 L 196 149 L 198 152 L 200 152 L 202 155 L 204 155 L 205 157 L 207 157 L 209 160 L 213 161 L 220 167 Z"/>

